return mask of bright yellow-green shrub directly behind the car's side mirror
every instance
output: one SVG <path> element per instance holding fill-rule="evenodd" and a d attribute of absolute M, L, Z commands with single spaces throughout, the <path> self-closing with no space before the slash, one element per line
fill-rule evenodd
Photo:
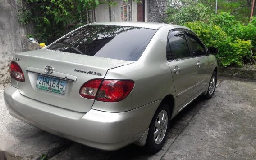
<path fill-rule="evenodd" d="M 242 67 L 243 58 L 251 56 L 251 41 L 235 39 L 222 30 L 221 27 L 207 22 L 187 22 L 184 24 L 192 29 L 207 47 L 219 48 L 216 55 L 219 65 Z"/>

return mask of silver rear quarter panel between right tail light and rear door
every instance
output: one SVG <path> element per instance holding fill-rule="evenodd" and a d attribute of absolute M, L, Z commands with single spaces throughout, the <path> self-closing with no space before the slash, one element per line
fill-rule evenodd
<path fill-rule="evenodd" d="M 131 79 L 135 82 L 130 95 L 116 103 L 95 101 L 93 109 L 125 112 L 164 99 L 166 95 L 175 95 L 172 74 L 166 60 L 166 39 L 170 29 L 169 26 L 161 27 L 135 63 L 108 70 L 105 79 Z"/>

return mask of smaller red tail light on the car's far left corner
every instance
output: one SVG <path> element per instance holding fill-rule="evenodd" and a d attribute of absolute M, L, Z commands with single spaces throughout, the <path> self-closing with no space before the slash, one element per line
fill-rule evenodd
<path fill-rule="evenodd" d="M 11 75 L 11 78 L 14 78 L 17 81 L 25 82 L 24 74 L 20 66 L 18 65 L 18 63 L 14 61 L 11 61 L 11 64 L 10 64 L 10 75 Z"/>

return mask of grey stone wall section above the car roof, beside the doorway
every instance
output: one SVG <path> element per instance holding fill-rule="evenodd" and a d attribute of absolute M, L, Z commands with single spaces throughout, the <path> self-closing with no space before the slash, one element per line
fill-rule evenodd
<path fill-rule="evenodd" d="M 148 0 L 148 21 L 164 22 L 166 9 L 167 0 Z"/>

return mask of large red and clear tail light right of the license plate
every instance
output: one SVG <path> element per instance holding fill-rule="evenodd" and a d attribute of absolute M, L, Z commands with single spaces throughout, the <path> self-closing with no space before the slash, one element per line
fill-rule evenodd
<path fill-rule="evenodd" d="M 102 82 L 101 82 L 102 81 Z M 80 95 L 103 102 L 118 102 L 133 90 L 133 80 L 93 79 L 82 85 Z"/>

